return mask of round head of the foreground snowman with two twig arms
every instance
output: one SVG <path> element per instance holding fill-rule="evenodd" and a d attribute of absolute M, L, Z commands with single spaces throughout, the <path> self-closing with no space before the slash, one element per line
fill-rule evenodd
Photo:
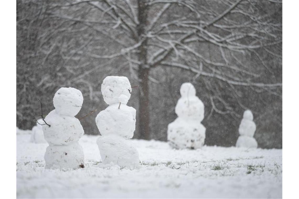
<path fill-rule="evenodd" d="M 83 95 L 75 88 L 60 88 L 54 95 L 53 104 L 60 115 L 75 116 L 83 104 Z"/>

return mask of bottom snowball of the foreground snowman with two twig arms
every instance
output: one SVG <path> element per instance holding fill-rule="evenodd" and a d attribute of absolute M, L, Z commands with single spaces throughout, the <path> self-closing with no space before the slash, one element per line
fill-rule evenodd
<path fill-rule="evenodd" d="M 78 169 L 81 164 L 84 164 L 84 153 L 79 142 L 48 146 L 46 149 L 46 169 Z"/>

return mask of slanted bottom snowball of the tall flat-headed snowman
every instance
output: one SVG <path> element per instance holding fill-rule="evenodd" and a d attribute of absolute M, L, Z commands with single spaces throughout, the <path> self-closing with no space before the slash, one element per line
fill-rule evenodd
<path fill-rule="evenodd" d="M 130 140 L 118 135 L 105 135 L 97 139 L 97 145 L 104 164 L 113 163 L 129 169 L 139 167 L 139 154 Z"/>

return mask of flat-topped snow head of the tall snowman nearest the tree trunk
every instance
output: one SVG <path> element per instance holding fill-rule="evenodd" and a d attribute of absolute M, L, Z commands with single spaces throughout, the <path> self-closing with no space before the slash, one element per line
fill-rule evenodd
<path fill-rule="evenodd" d="M 107 76 L 102 83 L 104 101 L 111 104 L 127 104 L 131 97 L 131 84 L 127 77 Z"/>

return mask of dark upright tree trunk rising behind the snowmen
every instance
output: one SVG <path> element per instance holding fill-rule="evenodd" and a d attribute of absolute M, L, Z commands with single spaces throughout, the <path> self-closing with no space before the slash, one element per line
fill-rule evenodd
<path fill-rule="evenodd" d="M 146 1 L 138 1 L 138 21 L 137 34 L 139 41 L 144 37 L 145 27 L 147 26 L 147 6 Z M 147 65 L 147 39 L 145 39 L 138 48 L 138 67 L 139 87 L 139 138 L 149 140 L 149 88 L 148 75 L 149 67 Z"/>

